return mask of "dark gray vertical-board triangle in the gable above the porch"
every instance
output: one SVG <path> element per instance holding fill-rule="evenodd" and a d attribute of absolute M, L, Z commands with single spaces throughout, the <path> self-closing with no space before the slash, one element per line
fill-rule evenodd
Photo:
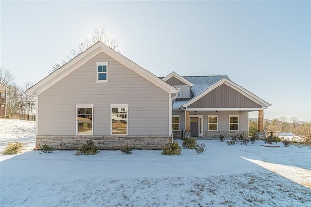
<path fill-rule="evenodd" d="M 207 95 L 190 104 L 188 108 L 261 108 L 233 88 L 222 84 Z"/>

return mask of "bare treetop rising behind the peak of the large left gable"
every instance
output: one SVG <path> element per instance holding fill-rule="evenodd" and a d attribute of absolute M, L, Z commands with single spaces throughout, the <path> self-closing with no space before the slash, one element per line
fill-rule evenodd
<path fill-rule="evenodd" d="M 55 70 L 59 69 L 63 65 L 65 65 L 68 61 L 79 55 L 80 53 L 84 52 L 87 48 L 94 45 L 96 42 L 102 41 L 104 44 L 106 44 L 108 47 L 112 49 L 116 49 L 119 46 L 119 42 L 116 39 L 108 37 L 106 34 L 105 28 L 95 28 L 93 30 L 91 38 L 86 38 L 79 46 L 78 49 L 72 49 L 70 50 L 70 54 L 67 56 L 66 59 L 62 59 L 60 63 L 54 63 L 52 65 L 52 69 L 48 72 L 51 74 Z"/>

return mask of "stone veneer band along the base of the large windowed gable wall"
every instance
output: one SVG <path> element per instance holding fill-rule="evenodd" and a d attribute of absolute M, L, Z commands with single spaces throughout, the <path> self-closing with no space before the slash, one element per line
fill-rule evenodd
<path fill-rule="evenodd" d="M 116 150 L 123 146 L 135 147 L 135 149 L 160 150 L 171 142 L 169 136 L 36 136 L 36 149 L 47 144 L 57 147 L 58 150 L 77 150 L 80 143 L 87 140 L 94 141 L 94 144 L 101 150 Z"/>

